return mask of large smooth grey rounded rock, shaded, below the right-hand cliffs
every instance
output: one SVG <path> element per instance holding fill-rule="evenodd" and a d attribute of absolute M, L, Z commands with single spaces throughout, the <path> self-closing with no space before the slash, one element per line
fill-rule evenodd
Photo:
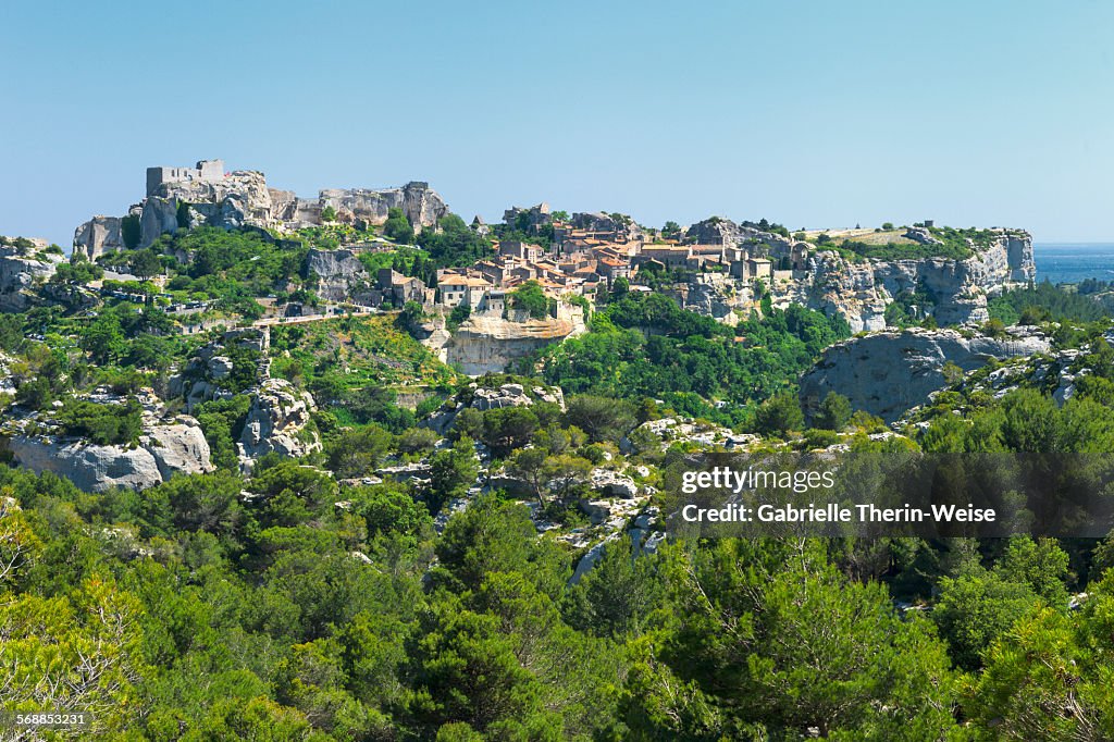
<path fill-rule="evenodd" d="M 955 330 L 886 331 L 832 345 L 801 378 L 801 404 L 812 417 L 831 392 L 851 400 L 854 409 L 887 422 L 922 404 L 944 389 L 945 363 L 974 371 L 989 359 L 1044 353 L 1048 339 L 1018 329 L 1003 338 L 965 336 Z"/>

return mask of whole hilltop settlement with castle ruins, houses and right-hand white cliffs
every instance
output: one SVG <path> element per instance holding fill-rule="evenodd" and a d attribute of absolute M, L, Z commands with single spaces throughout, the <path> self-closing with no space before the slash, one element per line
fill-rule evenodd
<path fill-rule="evenodd" d="M 442 232 L 447 217 L 460 223 L 428 184 L 324 189 L 310 199 L 268 187 L 262 173 L 225 173 L 224 167 L 222 160 L 203 160 L 194 168 L 149 168 L 146 197 L 127 215 L 97 216 L 78 227 L 74 260 L 104 264 L 106 255 L 147 248 L 163 235 L 204 225 L 256 228 L 280 241 L 324 230 L 333 235 L 330 244 L 312 251 L 304 269 L 319 279 L 317 295 L 335 304 L 400 309 L 413 301 L 432 313 L 459 307 L 458 316 L 468 310 L 498 318 L 514 303 L 509 293 L 529 285 L 554 300 L 548 314 L 557 318 L 570 315 L 569 300 L 577 305 L 583 303 L 575 297 L 594 301 L 600 286 L 619 281 L 634 291 L 666 293 L 682 307 L 727 324 L 769 296 L 774 306 L 799 303 L 838 313 L 853 331 L 885 328 L 886 306 L 924 286 L 935 293 L 932 311 L 941 321 L 981 322 L 988 293 L 1034 277 L 1032 238 L 1016 230 L 938 230 L 926 221 L 897 230 L 791 234 L 765 219 L 735 223 L 719 216 L 687 227 L 671 222 L 647 228 L 623 214 L 569 215 L 547 204 L 509 208 L 496 225 L 475 217 L 468 228 L 480 246 L 473 245 L 469 260 L 450 261 L 458 265 L 439 265 L 423 275 L 369 272 L 364 266 L 374 261 L 361 256 L 391 252 L 398 237 L 404 242 Z M 405 221 L 401 227 L 399 219 Z M 384 236 L 384 226 L 393 238 Z M 922 257 L 975 260 L 957 271 Z M 140 280 L 127 266 L 106 267 L 114 280 Z M 158 284 L 157 275 L 149 277 Z M 10 282 L 4 290 L 11 291 Z M 262 303 L 267 314 L 280 313 L 273 303 Z M 169 307 L 180 312 L 202 305 Z M 925 309 L 913 306 L 915 312 Z M 281 311 L 293 316 L 303 310 L 294 302 Z M 543 312 L 534 314 L 541 319 Z"/>

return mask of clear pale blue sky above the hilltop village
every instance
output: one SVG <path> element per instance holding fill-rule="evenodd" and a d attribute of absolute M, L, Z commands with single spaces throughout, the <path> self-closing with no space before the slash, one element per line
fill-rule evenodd
<path fill-rule="evenodd" d="M 1114 240 L 1114 3 L 9 2 L 0 234 L 148 165 L 510 205 Z"/>

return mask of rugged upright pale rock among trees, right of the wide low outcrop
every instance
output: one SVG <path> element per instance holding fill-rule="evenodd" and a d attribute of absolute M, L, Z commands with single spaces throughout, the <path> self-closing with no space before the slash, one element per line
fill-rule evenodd
<path fill-rule="evenodd" d="M 321 450 L 316 431 L 307 428 L 313 397 L 285 379 L 267 379 L 252 393 L 252 407 L 240 437 L 243 459 L 266 453 L 301 457 Z"/>

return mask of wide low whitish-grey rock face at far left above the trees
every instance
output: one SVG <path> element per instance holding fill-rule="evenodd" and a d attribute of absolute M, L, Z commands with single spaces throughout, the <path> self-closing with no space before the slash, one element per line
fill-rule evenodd
<path fill-rule="evenodd" d="M 204 473 L 215 468 L 196 421 L 146 428 L 138 446 L 96 446 L 53 436 L 13 436 L 11 452 L 36 472 L 52 471 L 87 492 L 111 487 L 145 489 L 175 473 Z"/>

